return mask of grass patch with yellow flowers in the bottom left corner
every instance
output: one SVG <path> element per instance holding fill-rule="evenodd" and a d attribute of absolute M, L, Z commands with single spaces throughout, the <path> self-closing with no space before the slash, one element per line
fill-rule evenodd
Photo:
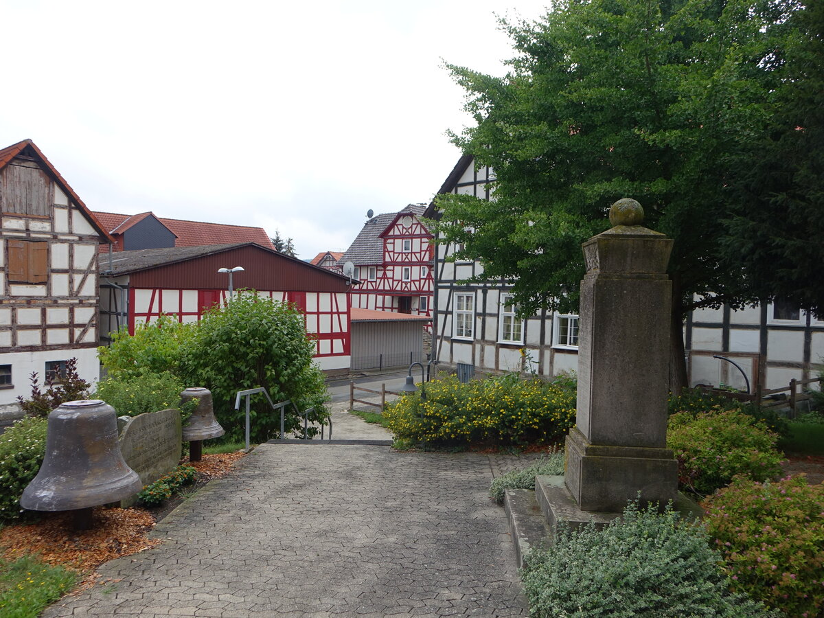
<path fill-rule="evenodd" d="M 31 556 L 13 562 L 0 559 L 0 616 L 36 618 L 49 603 L 74 587 L 77 576 Z"/>

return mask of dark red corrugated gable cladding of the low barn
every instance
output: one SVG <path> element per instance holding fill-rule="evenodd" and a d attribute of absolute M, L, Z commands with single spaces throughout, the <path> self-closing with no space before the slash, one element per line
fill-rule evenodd
<path fill-rule="evenodd" d="M 346 292 L 348 287 L 347 279 L 330 270 L 290 260 L 254 246 L 144 270 L 132 274 L 129 283 L 135 288 L 225 289 L 229 283 L 228 276 L 218 273 L 218 269 L 235 266 L 245 269 L 233 275 L 235 289 Z"/>

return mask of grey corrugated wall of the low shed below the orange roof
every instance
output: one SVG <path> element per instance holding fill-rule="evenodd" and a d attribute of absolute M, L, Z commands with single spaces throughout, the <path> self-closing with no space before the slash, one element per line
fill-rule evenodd
<path fill-rule="evenodd" d="M 352 369 L 423 362 L 425 324 L 422 321 L 352 322 Z"/>

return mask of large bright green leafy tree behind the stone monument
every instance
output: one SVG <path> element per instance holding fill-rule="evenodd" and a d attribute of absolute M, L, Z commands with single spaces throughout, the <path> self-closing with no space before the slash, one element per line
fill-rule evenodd
<path fill-rule="evenodd" d="M 453 141 L 492 166 L 494 201 L 442 196 L 438 232 L 486 279 L 511 279 L 522 312 L 577 311 L 580 245 L 617 199 L 675 243 L 673 386 L 696 307 L 758 294 L 722 259 L 737 162 L 770 122 L 797 0 L 565 0 L 541 21 L 502 21 L 504 77 L 451 66 L 476 126 Z"/>

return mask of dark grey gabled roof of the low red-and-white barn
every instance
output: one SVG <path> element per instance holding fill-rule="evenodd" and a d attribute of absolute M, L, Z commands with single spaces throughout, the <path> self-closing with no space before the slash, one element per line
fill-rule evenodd
<path fill-rule="evenodd" d="M 157 268 L 158 266 L 166 266 L 171 264 L 178 264 L 188 260 L 204 257 L 204 255 L 215 255 L 223 253 L 232 249 L 239 249 L 245 246 L 254 246 L 257 249 L 263 250 L 272 255 L 277 255 L 283 260 L 289 260 L 295 264 L 299 264 L 304 268 L 318 270 L 321 273 L 337 277 L 349 281 L 349 278 L 344 277 L 343 274 L 335 273 L 333 270 L 323 269 L 320 266 L 313 266 L 307 264 L 303 260 L 298 260 L 289 255 L 279 253 L 278 251 L 267 247 L 260 246 L 254 242 L 235 242 L 227 245 L 201 245 L 188 247 L 164 247 L 162 249 L 136 249 L 130 251 L 117 251 L 111 254 L 111 268 L 108 256 L 101 256 L 100 269 L 101 274 L 105 276 L 119 276 L 121 274 L 137 273 L 141 270 L 149 270 Z"/>

